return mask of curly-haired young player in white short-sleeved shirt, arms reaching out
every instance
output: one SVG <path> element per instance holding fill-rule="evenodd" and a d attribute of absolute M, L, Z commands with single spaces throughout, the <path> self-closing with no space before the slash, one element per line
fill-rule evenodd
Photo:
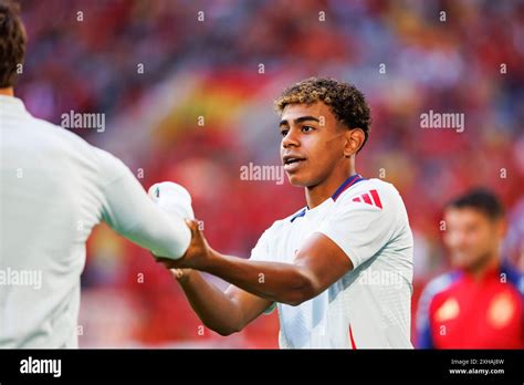
<path fill-rule="evenodd" d="M 412 236 L 400 195 L 365 179 L 355 158 L 370 113 L 353 85 L 308 79 L 276 101 L 281 156 L 306 207 L 277 220 L 249 260 L 211 249 L 195 222 L 175 262 L 191 306 L 220 334 L 240 331 L 274 304 L 281 347 L 411 347 Z M 222 293 L 195 270 L 230 282 Z"/>

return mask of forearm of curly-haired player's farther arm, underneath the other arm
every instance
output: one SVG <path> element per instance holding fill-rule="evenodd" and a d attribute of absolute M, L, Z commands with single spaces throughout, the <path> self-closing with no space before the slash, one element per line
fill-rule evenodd
<path fill-rule="evenodd" d="M 221 335 L 229 335 L 243 327 L 242 316 L 234 301 L 206 281 L 201 273 L 191 271 L 179 279 L 191 308 L 203 324 Z"/>

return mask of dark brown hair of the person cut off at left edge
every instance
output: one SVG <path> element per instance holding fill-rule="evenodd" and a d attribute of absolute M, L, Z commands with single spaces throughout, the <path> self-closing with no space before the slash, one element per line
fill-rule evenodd
<path fill-rule="evenodd" d="M 17 82 L 17 67 L 23 63 L 25 29 L 19 17 L 19 4 L 0 0 L 0 89 Z"/>

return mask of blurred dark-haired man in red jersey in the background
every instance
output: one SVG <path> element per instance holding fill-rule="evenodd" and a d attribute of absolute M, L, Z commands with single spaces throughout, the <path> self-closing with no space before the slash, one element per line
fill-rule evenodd
<path fill-rule="evenodd" d="M 500 253 L 506 232 L 504 209 L 478 189 L 444 212 L 444 243 L 455 271 L 431 281 L 417 315 L 422 348 L 523 348 L 522 273 Z"/>

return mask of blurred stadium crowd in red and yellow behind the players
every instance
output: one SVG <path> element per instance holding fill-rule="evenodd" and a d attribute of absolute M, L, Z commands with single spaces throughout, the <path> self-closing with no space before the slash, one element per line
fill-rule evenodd
<path fill-rule="evenodd" d="M 240 167 L 280 164 L 272 100 L 327 75 L 354 82 L 371 105 L 357 169 L 405 199 L 413 311 L 423 284 L 448 269 L 443 205 L 468 187 L 489 186 L 506 205 L 504 258 L 522 269 L 522 1 L 21 6 L 29 52 L 15 91 L 28 110 L 56 124 L 70 111 L 105 113 L 103 133 L 75 132 L 120 157 L 146 189 L 185 185 L 216 249 L 249 257 L 265 228 L 304 206 L 301 189 L 241 180 Z M 465 131 L 422 129 L 430 110 L 463 113 Z M 80 323 L 81 346 L 277 346 L 274 313 L 226 339 L 203 330 L 170 274 L 105 226 L 88 246 Z"/>

